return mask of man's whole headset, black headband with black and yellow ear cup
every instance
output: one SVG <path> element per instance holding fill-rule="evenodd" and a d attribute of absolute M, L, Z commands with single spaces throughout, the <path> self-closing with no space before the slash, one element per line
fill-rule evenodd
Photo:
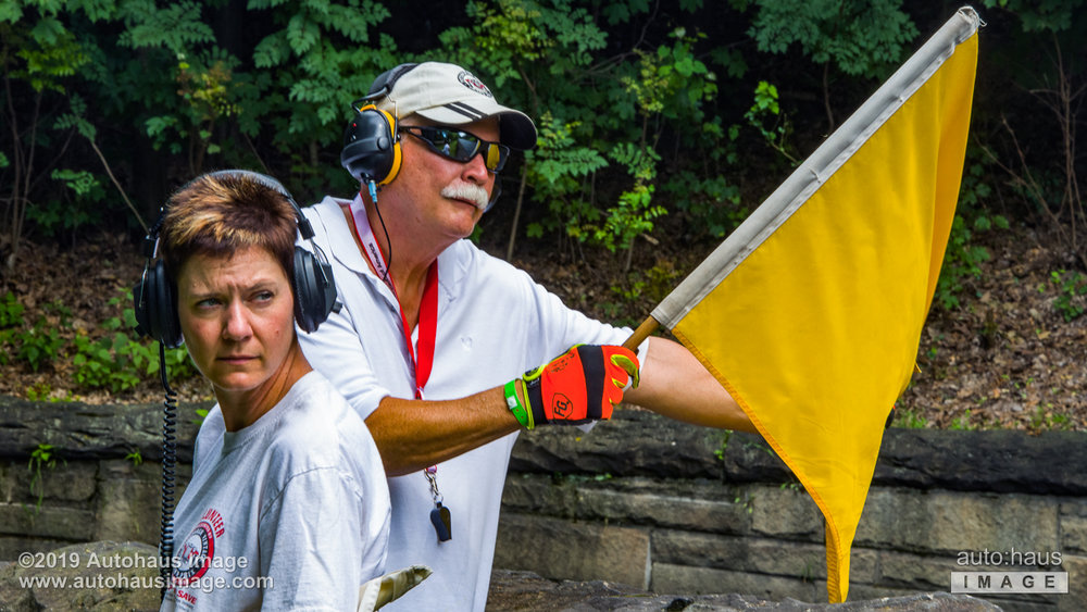
<path fill-rule="evenodd" d="M 354 116 L 343 130 L 340 164 L 360 183 L 388 185 L 400 172 L 400 135 L 397 117 L 374 105 L 392 91 L 397 80 L 418 64 L 400 64 L 374 79 L 370 91 L 351 102 Z"/>

